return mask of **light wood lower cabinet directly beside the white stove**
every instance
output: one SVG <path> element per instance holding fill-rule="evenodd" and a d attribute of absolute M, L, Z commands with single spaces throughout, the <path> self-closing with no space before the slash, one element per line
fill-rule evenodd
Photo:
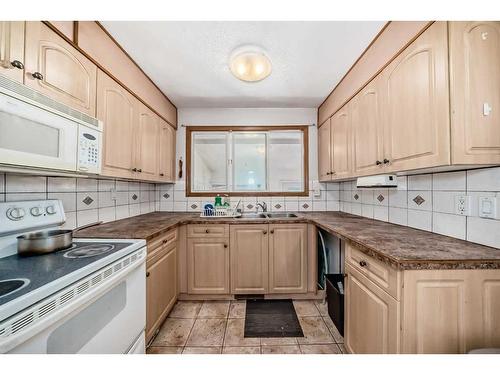
<path fill-rule="evenodd" d="M 146 261 L 146 342 L 177 301 L 177 235 L 170 231 L 148 243 Z"/>

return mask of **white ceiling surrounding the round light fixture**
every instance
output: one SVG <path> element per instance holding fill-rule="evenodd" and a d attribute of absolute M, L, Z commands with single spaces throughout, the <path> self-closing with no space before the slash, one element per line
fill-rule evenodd
<path fill-rule="evenodd" d="M 178 108 L 317 107 L 385 22 L 102 22 Z M 273 71 L 242 82 L 231 52 L 256 45 Z"/>

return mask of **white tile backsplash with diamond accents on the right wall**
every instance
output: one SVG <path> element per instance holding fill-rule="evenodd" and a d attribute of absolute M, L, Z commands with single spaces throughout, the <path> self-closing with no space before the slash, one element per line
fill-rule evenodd
<path fill-rule="evenodd" d="M 470 197 L 469 215 L 456 214 L 458 195 Z M 341 182 L 340 211 L 500 248 L 500 220 L 479 217 L 482 196 L 500 197 L 499 167 L 398 176 L 394 189 Z"/>

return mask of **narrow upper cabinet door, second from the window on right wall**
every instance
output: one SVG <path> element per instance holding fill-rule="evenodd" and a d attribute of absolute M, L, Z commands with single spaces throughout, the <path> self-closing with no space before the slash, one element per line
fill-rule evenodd
<path fill-rule="evenodd" d="M 346 104 L 332 116 L 330 125 L 332 178 L 345 178 L 352 174 L 350 104 Z"/>

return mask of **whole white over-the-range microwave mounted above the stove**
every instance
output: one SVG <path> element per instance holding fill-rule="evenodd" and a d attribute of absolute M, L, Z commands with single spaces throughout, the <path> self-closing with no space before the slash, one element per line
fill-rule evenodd
<path fill-rule="evenodd" d="M 0 164 L 99 174 L 102 122 L 0 76 Z"/>

